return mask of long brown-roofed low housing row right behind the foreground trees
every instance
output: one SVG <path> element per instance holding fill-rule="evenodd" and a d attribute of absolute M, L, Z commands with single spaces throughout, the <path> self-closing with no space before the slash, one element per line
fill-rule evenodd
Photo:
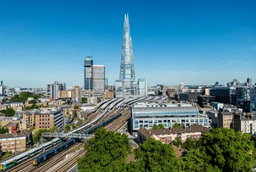
<path fill-rule="evenodd" d="M 189 128 L 163 128 L 152 129 L 140 128 L 138 130 L 138 141 L 143 143 L 147 138 L 161 141 L 163 144 L 170 144 L 179 137 L 183 142 L 188 138 L 199 140 L 201 135 L 209 132 L 210 128 L 193 124 Z"/>

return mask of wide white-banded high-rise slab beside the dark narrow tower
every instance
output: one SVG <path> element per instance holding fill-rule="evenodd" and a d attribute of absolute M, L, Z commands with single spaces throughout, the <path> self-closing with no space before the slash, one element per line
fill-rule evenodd
<path fill-rule="evenodd" d="M 105 88 L 105 66 L 93 65 L 93 91 L 103 93 Z"/>

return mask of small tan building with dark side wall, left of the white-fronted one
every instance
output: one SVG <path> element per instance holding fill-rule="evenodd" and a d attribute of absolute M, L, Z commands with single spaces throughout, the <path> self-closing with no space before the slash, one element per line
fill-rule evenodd
<path fill-rule="evenodd" d="M 232 112 L 218 112 L 219 128 L 234 128 L 234 114 Z"/>

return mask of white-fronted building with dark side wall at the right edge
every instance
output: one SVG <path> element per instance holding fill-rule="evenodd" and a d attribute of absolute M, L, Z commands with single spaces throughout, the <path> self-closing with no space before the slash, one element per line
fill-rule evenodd
<path fill-rule="evenodd" d="M 234 130 L 255 135 L 256 117 L 251 113 L 246 115 L 234 114 Z"/>

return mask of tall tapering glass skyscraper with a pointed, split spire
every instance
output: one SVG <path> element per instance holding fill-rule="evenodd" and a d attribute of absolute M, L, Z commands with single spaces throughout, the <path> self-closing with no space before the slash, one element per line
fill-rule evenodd
<path fill-rule="evenodd" d="M 134 54 L 132 51 L 128 14 L 125 15 L 125 22 L 124 22 L 120 78 L 119 80 L 116 80 L 116 82 L 118 82 L 118 85 L 120 85 L 120 80 L 122 81 L 122 87 L 119 87 L 119 89 L 121 89 L 120 92 L 115 92 L 116 97 L 137 95 L 135 71 L 134 71 Z"/>

